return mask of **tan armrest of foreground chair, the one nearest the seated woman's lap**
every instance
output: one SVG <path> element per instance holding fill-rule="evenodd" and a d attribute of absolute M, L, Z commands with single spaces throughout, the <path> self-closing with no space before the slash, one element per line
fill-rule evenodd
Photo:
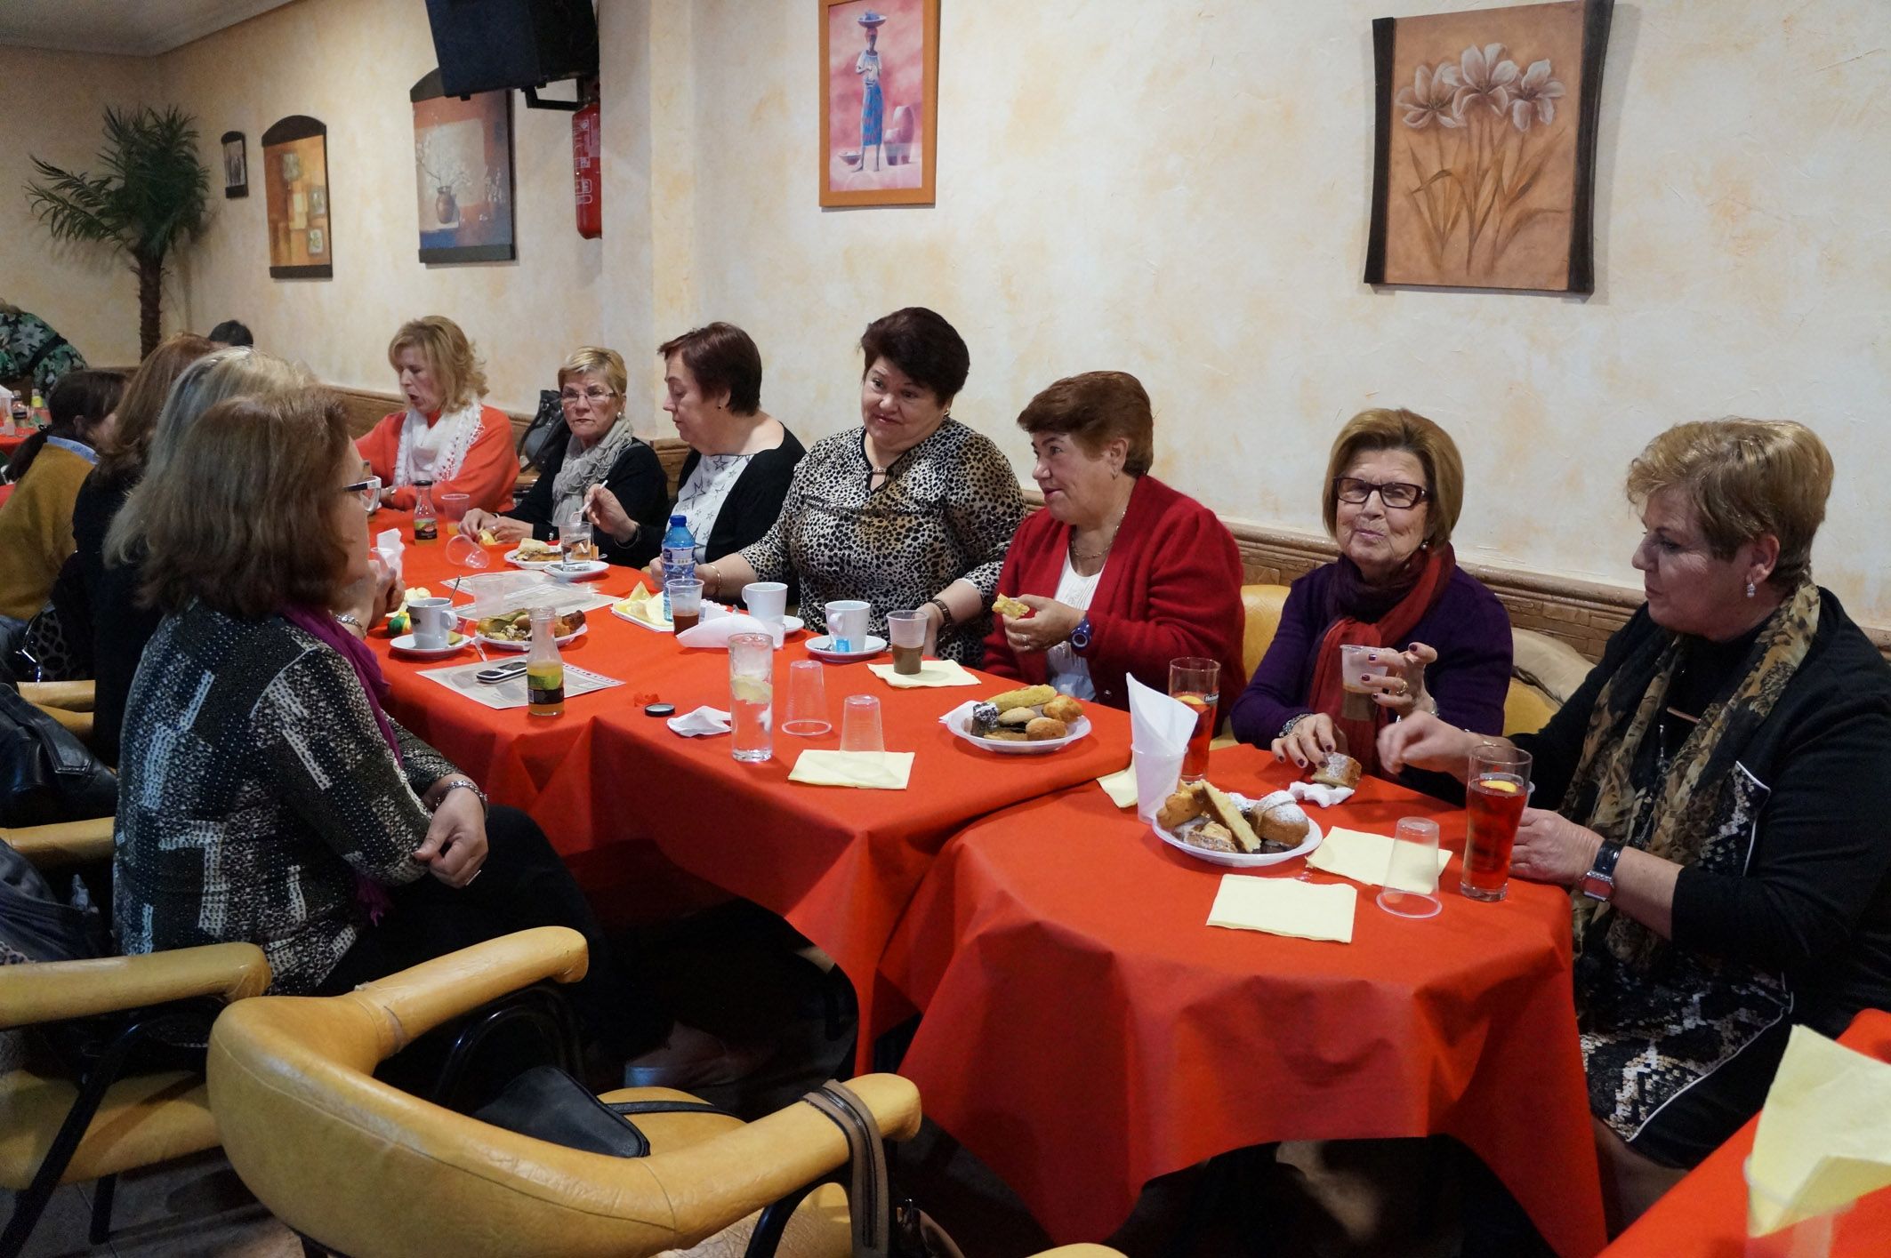
<path fill-rule="evenodd" d="M 584 937 L 567 926 L 539 926 L 422 961 L 363 982 L 352 999 L 382 1016 L 382 1060 L 450 1018 L 541 978 L 577 982 L 590 965 Z"/>

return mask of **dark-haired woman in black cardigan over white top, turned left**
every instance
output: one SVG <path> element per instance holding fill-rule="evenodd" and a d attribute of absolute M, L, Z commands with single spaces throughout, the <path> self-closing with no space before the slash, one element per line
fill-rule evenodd
<path fill-rule="evenodd" d="M 664 342 L 656 353 L 664 359 L 664 410 L 690 444 L 671 514 L 690 521 L 696 561 L 707 563 L 775 525 L 806 451 L 762 410 L 762 353 L 739 327 L 711 323 Z M 590 516 L 599 531 L 611 531 L 624 508 L 599 489 Z"/>

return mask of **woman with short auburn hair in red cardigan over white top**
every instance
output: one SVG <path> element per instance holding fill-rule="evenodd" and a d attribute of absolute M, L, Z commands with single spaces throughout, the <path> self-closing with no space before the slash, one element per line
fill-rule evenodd
<path fill-rule="evenodd" d="M 1044 510 L 1017 527 L 998 593 L 1031 616 L 995 620 L 985 669 L 1050 682 L 1076 699 L 1129 706 L 1125 674 L 1167 693 L 1169 661 L 1222 661 L 1239 695 L 1240 552 L 1195 499 L 1148 474 L 1155 455 L 1150 395 L 1125 372 L 1085 372 L 1031 399 Z"/>

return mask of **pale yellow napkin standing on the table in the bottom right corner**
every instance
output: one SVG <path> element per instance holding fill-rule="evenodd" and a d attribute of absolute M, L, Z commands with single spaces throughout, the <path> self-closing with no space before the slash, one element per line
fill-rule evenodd
<path fill-rule="evenodd" d="M 1891 1063 L 1793 1028 L 1747 1164 L 1747 1233 L 1891 1184 Z"/>

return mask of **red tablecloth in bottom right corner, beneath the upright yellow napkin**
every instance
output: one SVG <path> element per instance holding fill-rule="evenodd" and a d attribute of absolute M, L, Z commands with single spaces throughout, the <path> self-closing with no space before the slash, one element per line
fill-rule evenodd
<path fill-rule="evenodd" d="M 1866 1009 L 1838 1043 L 1891 1062 L 1891 1012 Z M 1761 1120 L 1740 1128 L 1708 1154 L 1647 1215 L 1609 1245 L 1607 1258 L 1742 1258 L 1747 1235 L 1747 1181 L 1742 1164 L 1753 1152 Z M 1832 1237 L 1834 1258 L 1891 1254 L 1891 1190 L 1863 1198 Z"/>

